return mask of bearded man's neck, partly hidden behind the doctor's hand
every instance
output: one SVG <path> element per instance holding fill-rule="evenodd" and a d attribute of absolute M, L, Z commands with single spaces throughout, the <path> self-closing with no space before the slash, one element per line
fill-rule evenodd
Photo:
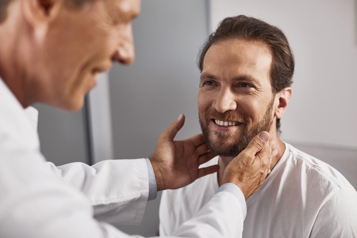
<path fill-rule="evenodd" d="M 273 161 L 270 164 L 270 169 L 273 170 L 279 159 L 283 156 L 283 153 L 285 151 L 285 144 L 280 140 L 278 137 L 277 133 L 271 133 L 270 132 L 270 143 L 274 143 L 273 149 L 278 150 L 278 154 L 275 158 L 273 158 Z M 217 179 L 218 179 L 218 185 L 222 185 L 222 178 L 223 178 L 223 173 L 227 167 L 227 165 L 232 161 L 234 157 L 223 157 L 220 156 L 218 159 L 218 164 L 220 166 L 220 170 L 217 173 Z"/>

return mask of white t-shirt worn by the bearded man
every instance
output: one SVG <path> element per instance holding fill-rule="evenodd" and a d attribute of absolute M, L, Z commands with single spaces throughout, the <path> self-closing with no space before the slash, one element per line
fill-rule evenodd
<path fill-rule="evenodd" d="M 247 199 L 243 238 L 357 237 L 357 192 L 340 172 L 285 143 L 259 191 Z M 218 163 L 218 156 L 203 166 Z M 217 173 L 162 193 L 160 235 L 170 235 L 209 201 Z M 217 220 L 220 218 L 217 217 Z"/>

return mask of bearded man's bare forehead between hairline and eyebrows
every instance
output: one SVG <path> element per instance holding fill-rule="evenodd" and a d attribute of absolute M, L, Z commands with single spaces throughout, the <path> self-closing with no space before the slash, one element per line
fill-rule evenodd
<path fill-rule="evenodd" d="M 202 74 L 208 72 L 223 79 L 250 75 L 270 85 L 272 52 L 258 41 L 230 39 L 213 44 L 203 61 Z M 264 83 L 265 82 L 265 83 Z"/>

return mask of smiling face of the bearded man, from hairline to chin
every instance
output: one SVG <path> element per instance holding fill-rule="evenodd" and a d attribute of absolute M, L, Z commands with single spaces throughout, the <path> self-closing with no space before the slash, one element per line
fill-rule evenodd
<path fill-rule="evenodd" d="M 213 44 L 203 61 L 198 113 L 210 150 L 237 156 L 273 122 L 272 54 L 261 42 L 226 40 Z"/>

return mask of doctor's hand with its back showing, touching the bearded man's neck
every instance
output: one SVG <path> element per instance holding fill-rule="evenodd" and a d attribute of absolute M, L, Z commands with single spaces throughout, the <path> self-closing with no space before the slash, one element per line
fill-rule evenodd
<path fill-rule="evenodd" d="M 263 131 L 255 136 L 248 146 L 225 168 L 222 184 L 234 183 L 245 199 L 257 192 L 270 173 L 270 163 L 277 155 L 270 142 L 270 135 Z"/>

